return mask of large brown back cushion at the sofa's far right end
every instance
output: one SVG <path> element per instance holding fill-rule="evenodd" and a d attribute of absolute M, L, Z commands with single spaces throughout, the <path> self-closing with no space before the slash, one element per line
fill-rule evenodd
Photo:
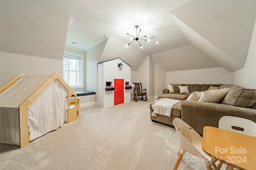
<path fill-rule="evenodd" d="M 228 92 L 222 104 L 239 107 L 251 107 L 256 103 L 256 90 L 246 88 L 234 88 Z"/>

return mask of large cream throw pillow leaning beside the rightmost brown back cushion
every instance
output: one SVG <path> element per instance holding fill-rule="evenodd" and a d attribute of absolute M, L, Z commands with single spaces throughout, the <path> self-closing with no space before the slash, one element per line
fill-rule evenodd
<path fill-rule="evenodd" d="M 198 102 L 220 103 L 228 93 L 228 88 L 219 90 L 205 90 Z"/>

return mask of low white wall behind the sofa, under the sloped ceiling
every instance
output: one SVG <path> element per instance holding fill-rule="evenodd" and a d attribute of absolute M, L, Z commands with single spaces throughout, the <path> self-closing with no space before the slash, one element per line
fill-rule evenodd
<path fill-rule="evenodd" d="M 166 84 L 231 84 L 231 73 L 222 67 L 166 72 Z M 164 87 L 163 87 L 164 88 Z"/>

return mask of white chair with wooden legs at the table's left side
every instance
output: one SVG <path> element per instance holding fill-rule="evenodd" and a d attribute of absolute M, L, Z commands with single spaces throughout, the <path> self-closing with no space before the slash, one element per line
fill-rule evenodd
<path fill-rule="evenodd" d="M 214 170 L 217 170 L 215 163 L 212 162 L 212 157 L 206 154 L 202 149 L 202 137 L 186 122 L 179 118 L 175 118 L 172 123 L 178 133 L 178 141 L 181 147 L 173 170 L 177 170 L 185 152 L 203 158 L 208 170 L 211 170 L 211 166 L 213 166 Z"/>

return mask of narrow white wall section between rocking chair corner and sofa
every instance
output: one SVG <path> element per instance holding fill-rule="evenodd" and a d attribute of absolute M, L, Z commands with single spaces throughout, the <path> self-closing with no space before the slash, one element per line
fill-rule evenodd
<path fill-rule="evenodd" d="M 162 95 L 162 89 L 167 86 L 165 71 L 157 64 L 154 65 L 154 77 L 155 77 L 155 98 Z"/>

